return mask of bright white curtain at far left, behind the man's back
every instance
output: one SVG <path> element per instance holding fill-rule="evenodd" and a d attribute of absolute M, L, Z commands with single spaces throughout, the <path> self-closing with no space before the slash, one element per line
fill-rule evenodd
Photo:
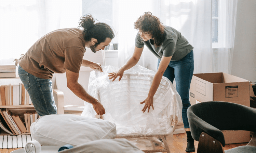
<path fill-rule="evenodd" d="M 14 64 L 46 33 L 78 27 L 81 16 L 82 0 L 0 1 L 0 64 Z"/>

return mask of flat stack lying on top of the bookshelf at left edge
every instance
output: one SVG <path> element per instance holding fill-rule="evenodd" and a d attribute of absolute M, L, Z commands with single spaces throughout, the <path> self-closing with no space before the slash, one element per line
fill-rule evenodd
<path fill-rule="evenodd" d="M 15 65 L 0 65 L 0 78 L 15 78 Z"/>

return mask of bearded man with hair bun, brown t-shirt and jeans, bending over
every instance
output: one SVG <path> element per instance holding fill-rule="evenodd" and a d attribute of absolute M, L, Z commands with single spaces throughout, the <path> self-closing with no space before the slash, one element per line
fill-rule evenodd
<path fill-rule="evenodd" d="M 105 114 L 103 105 L 87 94 L 78 83 L 78 77 L 81 66 L 102 71 L 100 64 L 83 59 L 85 47 L 90 47 L 93 52 L 104 50 L 114 38 L 114 33 L 106 23 L 95 23 L 91 15 L 81 17 L 79 24 L 83 30 L 58 29 L 44 35 L 19 60 L 19 78 L 40 116 L 57 114 L 51 79 L 53 73 L 64 72 L 67 87 L 76 96 L 91 103 L 98 115 Z"/>

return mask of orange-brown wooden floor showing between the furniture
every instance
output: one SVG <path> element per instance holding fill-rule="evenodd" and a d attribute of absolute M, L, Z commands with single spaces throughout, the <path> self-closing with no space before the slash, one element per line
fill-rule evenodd
<path fill-rule="evenodd" d="M 186 153 L 185 152 L 186 147 L 187 147 L 186 133 L 174 134 L 173 138 L 172 137 L 167 138 L 167 142 L 169 143 L 171 153 Z M 195 148 L 196 148 L 196 152 L 197 152 L 198 141 L 195 141 L 194 144 L 195 144 Z M 228 150 L 228 149 L 238 147 L 238 146 L 244 146 L 246 144 L 247 143 L 237 143 L 237 144 L 226 145 L 224 147 L 224 150 Z M 10 153 L 17 149 L 20 149 L 20 148 L 0 149 L 0 153 Z"/>

